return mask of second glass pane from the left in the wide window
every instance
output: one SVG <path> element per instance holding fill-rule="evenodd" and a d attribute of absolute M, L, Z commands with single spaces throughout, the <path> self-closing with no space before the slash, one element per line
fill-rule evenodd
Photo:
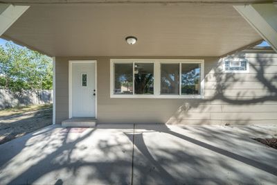
<path fill-rule="evenodd" d="M 154 94 L 153 63 L 134 63 L 134 93 Z"/>

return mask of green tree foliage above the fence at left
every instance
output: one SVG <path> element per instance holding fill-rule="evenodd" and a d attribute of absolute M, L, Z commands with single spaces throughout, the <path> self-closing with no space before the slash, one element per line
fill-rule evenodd
<path fill-rule="evenodd" d="M 0 46 L 0 88 L 52 89 L 52 59 L 7 42 Z"/>

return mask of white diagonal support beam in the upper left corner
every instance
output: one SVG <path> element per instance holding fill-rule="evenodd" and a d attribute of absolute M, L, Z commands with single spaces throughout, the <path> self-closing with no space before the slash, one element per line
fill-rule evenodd
<path fill-rule="evenodd" d="M 0 36 L 29 8 L 0 3 Z"/>

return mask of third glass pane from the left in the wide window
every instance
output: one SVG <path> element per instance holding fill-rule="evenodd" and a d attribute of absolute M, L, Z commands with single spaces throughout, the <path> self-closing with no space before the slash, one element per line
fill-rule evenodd
<path fill-rule="evenodd" d="M 179 64 L 161 64 L 161 94 L 179 94 Z"/>

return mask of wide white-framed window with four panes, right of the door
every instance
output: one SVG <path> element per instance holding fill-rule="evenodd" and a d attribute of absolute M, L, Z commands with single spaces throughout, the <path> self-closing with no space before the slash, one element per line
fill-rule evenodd
<path fill-rule="evenodd" d="M 203 98 L 203 60 L 111 60 L 111 98 Z"/>

